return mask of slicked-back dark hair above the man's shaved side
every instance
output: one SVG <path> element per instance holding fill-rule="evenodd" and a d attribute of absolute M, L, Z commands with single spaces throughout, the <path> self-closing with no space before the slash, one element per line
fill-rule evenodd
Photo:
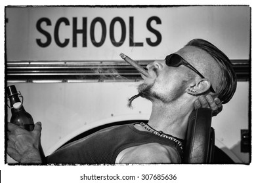
<path fill-rule="evenodd" d="M 207 52 L 211 57 L 213 57 L 219 66 L 221 67 L 221 72 L 223 74 L 223 78 L 221 79 L 221 88 L 219 90 L 219 99 L 222 103 L 228 103 L 230 99 L 233 97 L 234 92 L 236 92 L 236 73 L 232 67 L 232 63 L 230 59 L 219 50 L 216 46 L 211 44 L 211 42 L 205 41 L 203 39 L 193 39 L 188 42 L 185 46 L 195 46 Z"/>

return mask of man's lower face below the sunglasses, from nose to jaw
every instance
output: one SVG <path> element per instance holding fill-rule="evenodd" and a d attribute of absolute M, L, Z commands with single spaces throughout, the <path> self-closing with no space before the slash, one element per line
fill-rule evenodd
<path fill-rule="evenodd" d="M 169 67 L 163 61 L 154 61 L 147 66 L 151 78 L 144 78 L 138 91 L 150 101 L 170 103 L 186 92 L 194 73 L 184 65 Z M 144 77 L 144 76 L 142 76 Z"/>

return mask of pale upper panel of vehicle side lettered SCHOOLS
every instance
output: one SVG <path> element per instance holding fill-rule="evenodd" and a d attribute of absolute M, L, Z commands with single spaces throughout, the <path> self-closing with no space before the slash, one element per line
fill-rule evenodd
<path fill-rule="evenodd" d="M 7 60 L 164 59 L 191 39 L 248 59 L 250 8 L 9 7 Z"/>

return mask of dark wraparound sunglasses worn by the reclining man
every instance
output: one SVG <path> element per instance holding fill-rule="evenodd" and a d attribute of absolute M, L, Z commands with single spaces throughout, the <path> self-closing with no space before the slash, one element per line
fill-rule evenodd
<path fill-rule="evenodd" d="M 186 60 L 184 60 L 178 54 L 171 54 L 171 55 L 167 56 L 165 58 L 165 63 L 166 63 L 166 65 L 168 65 L 170 67 L 179 67 L 180 65 L 184 65 L 184 66 L 188 67 L 189 69 L 193 70 L 196 74 L 200 75 L 201 78 L 205 78 L 205 77 L 203 77 L 203 75 L 201 75 L 201 73 L 199 73 L 198 70 L 196 70 L 195 67 L 193 67 L 190 63 L 188 63 Z M 209 90 L 211 92 L 215 93 L 212 86 L 209 88 Z"/>

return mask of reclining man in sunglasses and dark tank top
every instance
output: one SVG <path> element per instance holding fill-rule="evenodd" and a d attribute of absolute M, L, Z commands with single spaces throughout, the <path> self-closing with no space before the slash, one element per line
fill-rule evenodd
<path fill-rule="evenodd" d="M 147 124 L 102 129 L 72 142 L 45 159 L 46 163 L 182 163 L 188 118 L 194 108 L 221 110 L 236 90 L 229 59 L 213 44 L 195 39 L 184 48 L 148 65 L 149 78 L 137 97 L 152 101 Z M 215 98 L 213 100 L 213 98 Z M 7 153 L 21 163 L 41 163 L 41 124 L 32 132 L 9 124 Z"/>

